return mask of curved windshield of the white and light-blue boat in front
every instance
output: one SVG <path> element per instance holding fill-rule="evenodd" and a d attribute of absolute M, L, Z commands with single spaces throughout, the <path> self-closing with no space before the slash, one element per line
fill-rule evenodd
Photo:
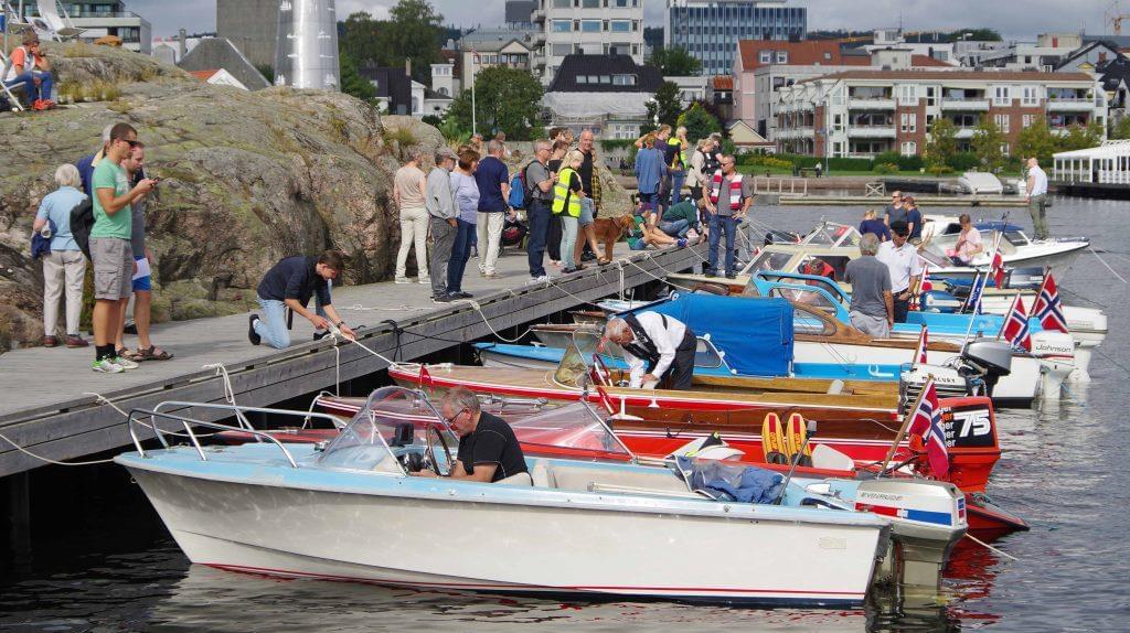
<path fill-rule="evenodd" d="M 428 429 L 434 429 L 428 432 Z M 459 446 L 459 439 L 447 427 L 427 397 L 402 387 L 383 387 L 373 392 L 365 406 L 349 425 L 322 452 L 319 466 L 347 468 L 390 475 L 403 475 L 395 451 L 423 451 L 428 442 L 441 458 Z"/>

